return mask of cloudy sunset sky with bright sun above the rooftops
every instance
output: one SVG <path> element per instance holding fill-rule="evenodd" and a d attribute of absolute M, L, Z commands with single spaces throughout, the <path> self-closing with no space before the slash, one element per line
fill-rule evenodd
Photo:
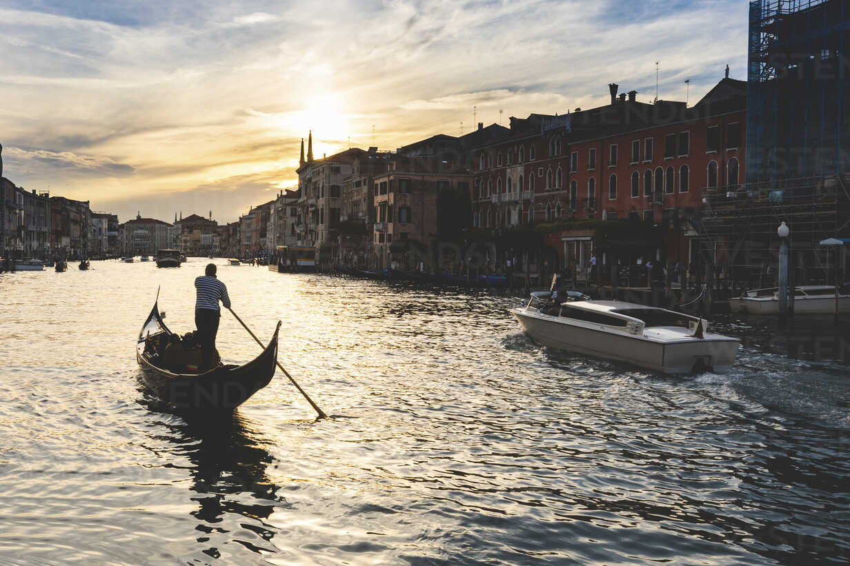
<path fill-rule="evenodd" d="M 232 222 L 314 156 L 746 79 L 743 0 L 0 1 L 3 176 Z M 690 79 L 689 85 L 685 79 Z M 686 93 L 687 89 L 687 93 Z"/>

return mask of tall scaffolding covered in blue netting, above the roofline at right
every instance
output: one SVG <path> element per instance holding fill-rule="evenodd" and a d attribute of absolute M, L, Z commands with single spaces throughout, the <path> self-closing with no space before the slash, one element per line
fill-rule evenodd
<path fill-rule="evenodd" d="M 756 0 L 749 24 L 747 182 L 847 172 L 850 0 Z"/>

